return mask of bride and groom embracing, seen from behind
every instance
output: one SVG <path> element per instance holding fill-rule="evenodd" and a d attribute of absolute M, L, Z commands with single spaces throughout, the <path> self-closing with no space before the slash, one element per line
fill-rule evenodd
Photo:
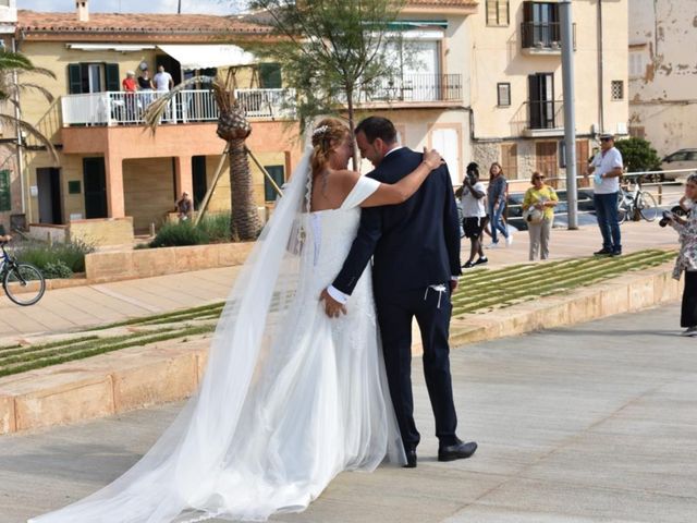
<path fill-rule="evenodd" d="M 355 131 L 366 177 L 346 169 L 354 138 L 339 120 L 311 143 L 235 281 L 198 392 L 125 474 L 30 522 L 264 521 L 304 510 L 342 471 L 416 466 L 413 318 L 438 459 L 475 452 L 455 434 L 448 168 L 400 147 L 383 118 Z"/>

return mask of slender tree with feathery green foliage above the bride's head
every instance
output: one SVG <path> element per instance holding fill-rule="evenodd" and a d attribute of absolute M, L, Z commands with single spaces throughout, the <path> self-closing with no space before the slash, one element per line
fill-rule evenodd
<path fill-rule="evenodd" d="M 301 130 L 319 114 L 346 107 L 354 127 L 357 95 L 392 73 L 390 25 L 404 0 L 252 0 L 257 22 L 270 25 L 279 42 L 261 52 L 281 64 L 284 83 L 298 95 Z M 398 57 L 393 57 L 398 58 Z M 357 154 L 354 153 L 354 169 Z"/>

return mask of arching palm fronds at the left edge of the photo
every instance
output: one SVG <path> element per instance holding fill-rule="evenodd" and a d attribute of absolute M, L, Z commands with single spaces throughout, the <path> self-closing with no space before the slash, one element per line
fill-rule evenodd
<path fill-rule="evenodd" d="M 15 108 L 19 108 L 19 95 L 23 92 L 34 90 L 39 93 L 47 101 L 52 102 L 53 96 L 48 89 L 38 84 L 22 81 L 27 74 L 39 74 L 56 80 L 56 75 L 51 71 L 35 66 L 32 61 L 21 52 L 0 49 L 0 101 L 10 102 Z M 24 131 L 36 138 L 48 149 L 53 161 L 59 163 L 58 153 L 51 139 L 29 122 L 23 120 L 21 117 L 0 112 L 0 123 L 3 125 L 17 126 L 20 131 Z M 20 138 L 17 138 L 17 143 L 21 144 Z"/>

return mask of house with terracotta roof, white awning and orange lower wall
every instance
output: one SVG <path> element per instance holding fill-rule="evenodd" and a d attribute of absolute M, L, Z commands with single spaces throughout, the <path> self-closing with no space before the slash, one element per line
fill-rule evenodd
<path fill-rule="evenodd" d="M 17 49 L 57 77 L 37 77 L 56 97 L 49 110 L 27 93 L 21 99 L 23 115 L 60 151 L 56 166 L 29 142 L 27 222 L 101 220 L 108 228 L 121 219 L 132 220 L 136 233 L 146 232 L 167 219 L 183 191 L 196 203 L 203 199 L 225 146 L 216 135 L 212 93 L 192 86 L 178 94 L 152 135 L 143 114 L 158 93 L 124 92 L 129 71 L 140 76 L 147 69 L 152 78 L 160 65 L 176 85 L 194 74 L 250 63 L 237 69 L 237 97 L 253 125 L 247 145 L 283 183 L 302 150 L 297 122 L 281 108 L 288 94 L 278 68 L 250 62 L 236 46 L 264 37 L 265 29 L 227 16 L 89 13 L 88 2 L 77 3 L 72 13 L 19 12 Z M 230 208 L 222 168 L 211 211 Z M 253 171 L 258 206 L 272 205 L 276 193 L 260 170 L 253 166 Z"/>

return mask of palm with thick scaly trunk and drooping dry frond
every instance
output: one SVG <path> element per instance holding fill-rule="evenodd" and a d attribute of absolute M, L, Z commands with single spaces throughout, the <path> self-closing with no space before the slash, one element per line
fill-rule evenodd
<path fill-rule="evenodd" d="M 261 221 L 254 202 L 252 171 L 247 158 L 245 141 L 252 133 L 252 125 L 245 111 L 235 97 L 235 71 L 228 70 L 224 78 L 220 76 L 194 76 L 161 95 L 147 108 L 145 123 L 155 132 L 168 111 L 171 100 L 181 90 L 193 85 L 208 85 L 213 93 L 220 115 L 217 134 L 228 143 L 228 163 L 230 166 L 230 231 L 233 241 L 255 240 L 261 230 Z"/>

